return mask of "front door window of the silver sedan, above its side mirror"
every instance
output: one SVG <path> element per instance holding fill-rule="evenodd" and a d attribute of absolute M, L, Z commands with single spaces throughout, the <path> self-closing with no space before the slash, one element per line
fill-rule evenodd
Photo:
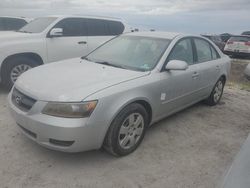
<path fill-rule="evenodd" d="M 194 64 L 191 39 L 183 39 L 179 41 L 168 57 L 168 61 L 170 60 L 181 60 L 187 62 L 189 65 Z"/>

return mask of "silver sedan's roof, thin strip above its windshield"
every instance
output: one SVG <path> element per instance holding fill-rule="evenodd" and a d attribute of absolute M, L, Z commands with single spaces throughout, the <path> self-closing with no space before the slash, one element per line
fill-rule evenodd
<path fill-rule="evenodd" d="M 140 37 L 154 37 L 154 38 L 165 38 L 174 39 L 177 36 L 183 35 L 181 33 L 171 33 L 171 32 L 159 32 L 159 31 L 146 31 L 146 32 L 132 32 L 126 33 L 128 36 L 140 36 Z"/>

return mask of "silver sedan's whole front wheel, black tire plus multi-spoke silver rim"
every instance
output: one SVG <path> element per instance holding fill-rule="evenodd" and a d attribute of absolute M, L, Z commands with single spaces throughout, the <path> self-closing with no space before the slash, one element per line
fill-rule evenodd
<path fill-rule="evenodd" d="M 115 156 L 132 153 L 142 142 L 148 124 L 148 113 L 142 105 L 133 103 L 126 106 L 111 123 L 104 149 Z"/>

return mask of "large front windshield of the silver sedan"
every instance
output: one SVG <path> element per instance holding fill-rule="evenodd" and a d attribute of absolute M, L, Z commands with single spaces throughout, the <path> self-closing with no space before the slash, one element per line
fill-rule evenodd
<path fill-rule="evenodd" d="M 120 36 L 97 48 L 85 58 L 114 67 L 150 71 L 157 65 L 169 43 L 169 39 Z"/>

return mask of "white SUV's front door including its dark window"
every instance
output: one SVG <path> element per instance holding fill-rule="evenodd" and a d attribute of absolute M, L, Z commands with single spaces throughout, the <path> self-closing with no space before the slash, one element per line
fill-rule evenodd
<path fill-rule="evenodd" d="M 62 28 L 63 35 L 46 38 L 49 62 L 81 57 L 88 53 L 86 19 L 65 18 L 53 28 Z"/>

